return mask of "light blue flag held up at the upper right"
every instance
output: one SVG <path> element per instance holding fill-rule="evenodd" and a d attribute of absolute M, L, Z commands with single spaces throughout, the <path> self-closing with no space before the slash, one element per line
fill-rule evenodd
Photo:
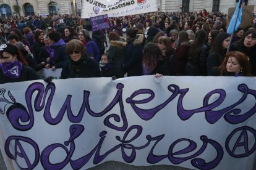
<path fill-rule="evenodd" d="M 231 18 L 231 21 L 229 23 L 228 30 L 227 30 L 227 33 L 229 34 L 232 34 L 233 31 L 236 31 L 238 26 L 242 23 L 242 2 L 244 2 L 244 0 L 239 0 L 236 6 L 236 10 L 233 14 L 233 17 Z M 238 14 L 238 11 L 239 11 L 239 14 Z M 238 18 L 236 22 L 237 15 L 238 15 Z M 235 23 L 236 23 L 236 27 L 234 28 Z"/>

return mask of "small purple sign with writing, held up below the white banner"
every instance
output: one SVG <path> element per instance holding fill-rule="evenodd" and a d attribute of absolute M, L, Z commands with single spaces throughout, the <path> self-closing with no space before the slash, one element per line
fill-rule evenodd
<path fill-rule="evenodd" d="M 90 18 L 92 23 L 92 31 L 105 30 L 110 28 L 108 15 L 100 15 Z"/>

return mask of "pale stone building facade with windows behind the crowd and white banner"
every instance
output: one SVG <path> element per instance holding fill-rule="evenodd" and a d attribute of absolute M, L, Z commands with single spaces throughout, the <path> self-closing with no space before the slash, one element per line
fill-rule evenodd
<path fill-rule="evenodd" d="M 107 0 L 102 0 L 107 1 Z M 119 0 L 116 0 L 119 1 Z M 206 9 L 228 13 L 239 0 L 147 0 L 158 1 L 163 12 L 187 12 Z M 256 5 L 256 0 L 244 0 L 245 5 Z M 182 9 L 181 9 L 182 5 Z M 82 0 L 0 0 L 0 15 L 80 14 Z M 254 9 L 256 13 L 256 8 Z"/>

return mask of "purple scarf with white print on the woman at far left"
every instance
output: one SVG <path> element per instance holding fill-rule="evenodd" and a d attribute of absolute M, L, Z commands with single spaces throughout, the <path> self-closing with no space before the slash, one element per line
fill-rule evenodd
<path fill-rule="evenodd" d="M 2 72 L 8 78 L 19 78 L 22 70 L 22 62 L 15 60 L 15 62 L 1 63 L 0 68 L 2 68 Z"/>

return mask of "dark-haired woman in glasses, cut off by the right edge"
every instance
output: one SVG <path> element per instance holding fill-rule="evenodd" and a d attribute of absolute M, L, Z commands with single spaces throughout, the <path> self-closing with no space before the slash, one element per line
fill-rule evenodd
<path fill-rule="evenodd" d="M 231 45 L 230 51 L 240 51 L 248 58 L 252 67 L 252 75 L 256 76 L 256 30 L 249 30 L 244 37 Z"/>

